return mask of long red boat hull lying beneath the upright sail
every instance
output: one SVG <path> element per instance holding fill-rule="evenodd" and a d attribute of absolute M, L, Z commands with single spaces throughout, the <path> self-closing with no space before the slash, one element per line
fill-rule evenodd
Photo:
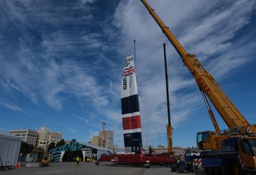
<path fill-rule="evenodd" d="M 149 156 L 149 155 L 141 155 L 141 154 L 109 154 L 109 155 L 101 155 L 100 161 L 112 161 L 114 162 L 122 162 L 122 163 L 165 163 L 172 164 L 176 163 L 176 159 L 173 157 L 167 156 Z"/>

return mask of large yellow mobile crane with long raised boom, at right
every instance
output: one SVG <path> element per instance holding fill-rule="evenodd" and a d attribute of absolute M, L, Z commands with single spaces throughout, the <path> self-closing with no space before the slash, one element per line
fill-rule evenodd
<path fill-rule="evenodd" d="M 219 161 L 224 160 L 224 163 L 214 165 L 215 169 L 219 168 L 222 173 L 230 169 L 230 167 L 233 170 L 233 174 L 237 175 L 245 172 L 255 173 L 256 125 L 251 125 L 242 116 L 212 75 L 206 71 L 194 54 L 189 54 L 185 51 L 147 1 L 141 0 L 141 2 L 148 9 L 149 13 L 163 30 L 163 33 L 181 56 L 184 65 L 194 77 L 208 108 L 208 113 L 215 131 L 197 133 L 197 145 L 199 149 L 203 150 L 202 155 L 208 153 L 205 158 L 213 159 L 215 157 L 219 158 Z M 219 129 L 207 97 L 228 126 L 228 129 L 223 131 Z M 233 147 L 230 144 L 233 144 Z M 226 155 L 226 157 L 224 158 L 223 155 Z M 211 166 L 209 165 L 209 167 Z"/>

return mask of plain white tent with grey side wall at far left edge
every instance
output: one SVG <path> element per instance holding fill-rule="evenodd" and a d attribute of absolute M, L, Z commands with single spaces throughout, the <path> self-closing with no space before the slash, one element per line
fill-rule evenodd
<path fill-rule="evenodd" d="M 3 166 L 15 166 L 17 164 L 21 140 L 18 136 L 0 131 L 0 157 Z"/>

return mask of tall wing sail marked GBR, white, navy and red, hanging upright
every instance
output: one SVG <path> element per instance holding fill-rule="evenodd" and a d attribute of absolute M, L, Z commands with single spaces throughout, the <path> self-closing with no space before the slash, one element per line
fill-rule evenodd
<path fill-rule="evenodd" d="M 121 108 L 126 152 L 142 148 L 141 115 L 133 56 L 125 58 L 121 84 Z"/>

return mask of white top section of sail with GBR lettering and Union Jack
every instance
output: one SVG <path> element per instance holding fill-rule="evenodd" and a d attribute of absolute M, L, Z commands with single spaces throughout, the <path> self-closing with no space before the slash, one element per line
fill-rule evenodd
<path fill-rule="evenodd" d="M 133 55 L 125 58 L 122 72 L 121 98 L 138 94 Z"/>

